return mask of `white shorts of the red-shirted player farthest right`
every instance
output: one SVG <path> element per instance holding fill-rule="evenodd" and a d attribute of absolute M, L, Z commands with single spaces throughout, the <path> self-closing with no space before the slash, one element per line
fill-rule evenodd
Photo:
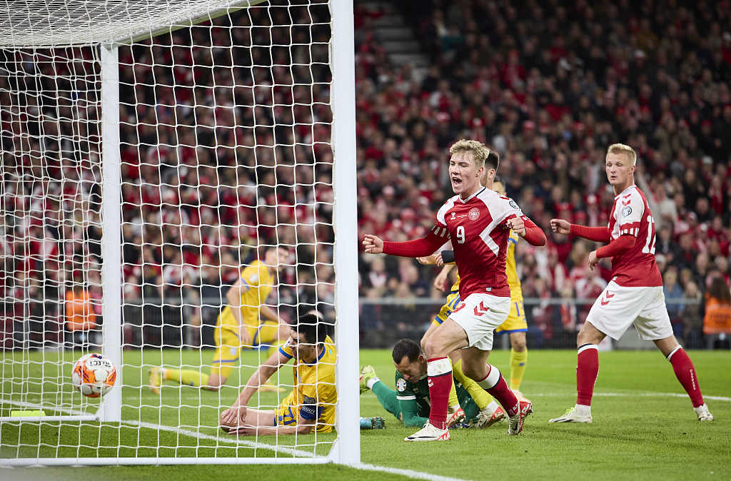
<path fill-rule="evenodd" d="M 613 339 L 621 338 L 632 323 L 646 341 L 673 335 L 662 286 L 622 287 L 610 281 L 594 301 L 586 321 Z"/>

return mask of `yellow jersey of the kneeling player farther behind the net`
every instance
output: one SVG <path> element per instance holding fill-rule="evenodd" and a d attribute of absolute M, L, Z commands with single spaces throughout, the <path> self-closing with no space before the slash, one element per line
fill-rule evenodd
<path fill-rule="evenodd" d="M 241 271 L 240 279 L 248 289 L 241 295 L 241 319 L 245 325 L 259 325 L 259 307 L 267 300 L 274 285 L 273 277 L 264 262 L 255 260 Z M 219 315 L 216 327 L 238 333 L 238 323 L 231 306 Z"/>

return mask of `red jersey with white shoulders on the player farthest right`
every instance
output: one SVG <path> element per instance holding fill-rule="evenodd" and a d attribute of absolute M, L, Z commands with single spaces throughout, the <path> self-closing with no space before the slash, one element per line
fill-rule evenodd
<path fill-rule="evenodd" d="M 655 222 L 645 194 L 629 186 L 614 198 L 609 216 L 612 240 L 634 235 L 632 249 L 612 257 L 612 280 L 624 287 L 662 286 L 662 276 L 655 263 Z"/>

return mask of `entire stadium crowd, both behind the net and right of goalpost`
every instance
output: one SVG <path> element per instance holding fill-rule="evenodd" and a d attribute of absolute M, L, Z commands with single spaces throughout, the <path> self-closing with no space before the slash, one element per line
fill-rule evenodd
<path fill-rule="evenodd" d="M 730 280 L 729 2 L 398 5 L 431 67 L 390 62 L 374 31 L 384 12 L 356 4 L 360 234 L 399 241 L 425 233 L 450 195 L 447 147 L 461 137 L 501 154 L 508 194 L 546 231 L 555 216 L 605 224 L 613 202 L 605 148 L 628 143 L 640 154 L 636 178 L 656 217 L 666 298 L 697 300 L 669 305 L 676 333 L 700 346 L 708 290 L 713 279 Z M 233 29 L 219 18 L 213 28 L 120 50 L 125 303 L 206 306 L 270 243 L 296 244 L 300 263 L 281 274 L 274 303 L 333 303 L 328 32 L 308 25 L 327 20 L 323 8 L 252 8 Z M 269 13 L 273 25 L 294 15 L 302 26 L 248 27 L 266 24 Z M 78 283 L 101 314 L 99 99 L 91 84 L 58 80 L 58 72 L 94 69 L 91 50 L 75 54 L 86 61 L 36 54 L 31 63 L 3 52 L 10 75 L 0 77 L 0 103 L 12 107 L 0 118 L 0 289 L 23 301 L 6 302 L 0 315 L 22 319 L 30 309 L 37 332 L 53 323 L 58 331 L 61 310 L 53 320 L 28 300 L 64 299 Z M 33 94 L 33 75 L 58 99 Z M 591 243 L 556 234 L 549 241 L 548 249 L 518 247 L 523 293 L 545 301 L 528 313 L 531 338 L 546 345 L 573 338 L 589 307 L 573 299 L 592 300 L 610 272 L 607 262 L 598 272 L 586 267 Z M 431 287 L 431 268 L 412 260 L 360 257 L 359 271 L 361 296 L 371 300 L 438 303 L 443 295 Z M 394 312 L 406 312 L 385 311 L 365 306 L 363 330 L 384 330 Z M 208 314 L 192 308 L 185 322 L 211 324 L 216 312 L 215 303 Z M 414 328 L 405 315 L 399 331 Z"/>

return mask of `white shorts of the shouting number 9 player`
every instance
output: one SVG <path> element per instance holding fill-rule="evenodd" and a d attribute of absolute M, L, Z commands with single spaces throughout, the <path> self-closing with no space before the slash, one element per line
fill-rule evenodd
<path fill-rule="evenodd" d="M 510 298 L 474 293 L 459 303 L 450 314 L 467 333 L 470 347 L 483 351 L 493 349 L 493 331 L 505 322 L 510 313 Z"/>

